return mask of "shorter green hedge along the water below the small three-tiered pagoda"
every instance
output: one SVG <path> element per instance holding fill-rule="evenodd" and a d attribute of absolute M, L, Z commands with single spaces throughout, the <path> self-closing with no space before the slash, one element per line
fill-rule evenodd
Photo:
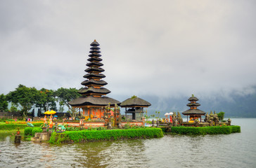
<path fill-rule="evenodd" d="M 240 126 L 215 126 L 215 127 L 172 127 L 176 134 L 231 134 L 241 132 Z"/>

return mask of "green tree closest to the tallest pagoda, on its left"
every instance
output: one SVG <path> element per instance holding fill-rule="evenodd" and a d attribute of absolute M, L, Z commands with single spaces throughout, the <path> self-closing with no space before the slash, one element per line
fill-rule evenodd
<path fill-rule="evenodd" d="M 70 116 L 72 116 L 72 118 L 75 118 L 74 116 L 76 116 L 76 114 L 78 113 L 78 110 L 77 108 L 72 108 L 72 106 L 70 106 L 68 102 L 80 96 L 80 94 L 77 91 L 78 90 L 76 88 L 67 89 L 63 87 L 60 87 L 56 91 L 56 97 L 58 97 L 58 100 L 62 104 L 65 104 L 65 106 L 68 106 L 68 112 L 70 113 Z"/>

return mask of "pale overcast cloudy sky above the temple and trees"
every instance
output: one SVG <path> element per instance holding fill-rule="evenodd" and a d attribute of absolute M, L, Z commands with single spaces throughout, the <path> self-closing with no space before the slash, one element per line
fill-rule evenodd
<path fill-rule="evenodd" d="M 82 87 L 94 39 L 110 97 L 250 94 L 255 8 L 246 0 L 1 0 L 0 94 L 19 84 Z"/>

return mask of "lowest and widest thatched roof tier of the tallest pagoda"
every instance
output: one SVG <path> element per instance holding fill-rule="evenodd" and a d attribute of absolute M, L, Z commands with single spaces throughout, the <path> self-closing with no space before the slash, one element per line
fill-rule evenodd
<path fill-rule="evenodd" d="M 96 106 L 107 106 L 110 103 L 111 106 L 114 106 L 115 104 L 119 105 L 120 102 L 112 99 L 110 97 L 79 97 L 77 99 L 74 99 L 68 104 L 71 106 L 83 106 L 83 105 L 96 105 Z"/>

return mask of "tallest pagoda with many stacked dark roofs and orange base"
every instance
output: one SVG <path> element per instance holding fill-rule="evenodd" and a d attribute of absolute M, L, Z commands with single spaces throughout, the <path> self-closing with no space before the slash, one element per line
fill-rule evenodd
<path fill-rule="evenodd" d="M 87 72 L 84 75 L 84 80 L 81 84 L 84 85 L 84 88 L 78 92 L 82 94 L 81 97 L 74 99 L 69 102 L 72 107 L 81 108 L 83 110 L 83 116 L 89 116 L 91 118 L 101 118 L 103 116 L 103 108 L 110 104 L 111 107 L 114 107 L 115 104 L 120 104 L 119 101 L 112 99 L 110 97 L 105 97 L 106 94 L 110 93 L 110 90 L 106 89 L 106 83 L 102 78 L 105 78 L 105 75 L 102 74 L 104 69 L 101 68 L 103 64 L 101 63 L 102 59 L 100 58 L 101 51 L 98 47 L 99 44 L 96 40 L 91 43 L 91 51 L 89 55 L 89 63 L 87 63 L 88 68 L 84 71 Z"/>

